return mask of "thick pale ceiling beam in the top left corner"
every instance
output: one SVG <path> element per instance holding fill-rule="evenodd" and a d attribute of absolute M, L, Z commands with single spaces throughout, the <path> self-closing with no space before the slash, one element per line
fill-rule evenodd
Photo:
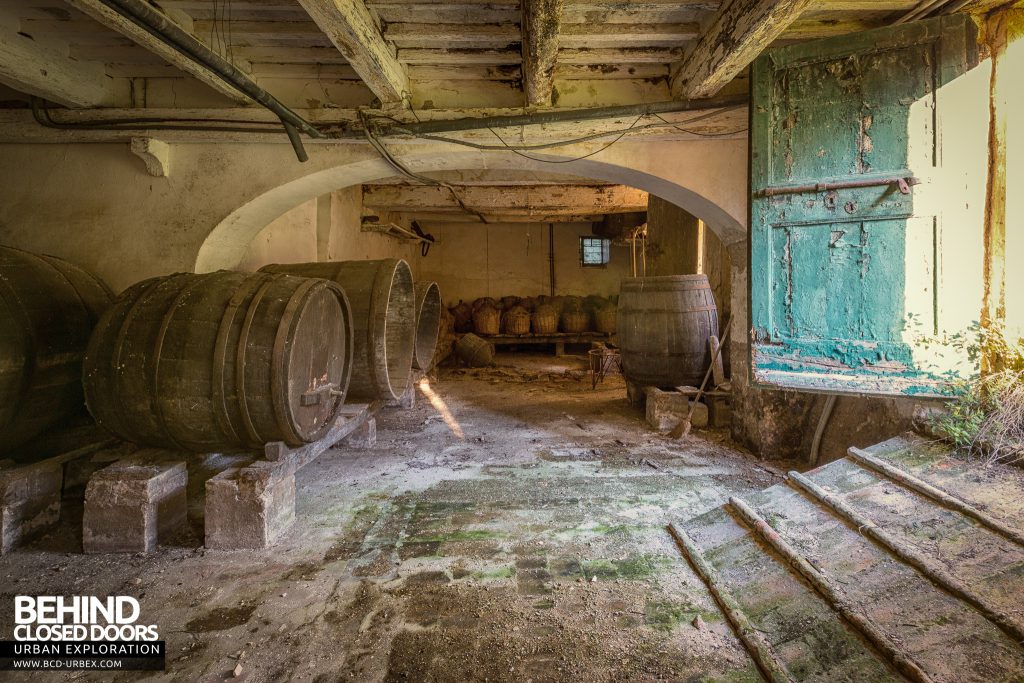
<path fill-rule="evenodd" d="M 56 46 L 19 31 L 16 17 L 8 15 L 0 16 L 0 83 L 65 106 L 127 103 L 119 101 L 117 83 L 101 63 L 69 58 Z"/>

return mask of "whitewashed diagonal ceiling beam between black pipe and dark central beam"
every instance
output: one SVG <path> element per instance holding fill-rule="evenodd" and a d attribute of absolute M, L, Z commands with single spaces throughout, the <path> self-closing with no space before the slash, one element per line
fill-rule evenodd
<path fill-rule="evenodd" d="M 382 104 L 402 101 L 410 92 L 406 67 L 362 0 L 299 0 L 299 4 Z"/>

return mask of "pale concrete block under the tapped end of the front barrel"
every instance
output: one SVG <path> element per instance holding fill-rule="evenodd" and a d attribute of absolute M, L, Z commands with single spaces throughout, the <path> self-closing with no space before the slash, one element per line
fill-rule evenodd
<path fill-rule="evenodd" d="M 206 547 L 259 550 L 295 521 L 295 472 L 257 462 L 225 470 L 206 482 Z"/>

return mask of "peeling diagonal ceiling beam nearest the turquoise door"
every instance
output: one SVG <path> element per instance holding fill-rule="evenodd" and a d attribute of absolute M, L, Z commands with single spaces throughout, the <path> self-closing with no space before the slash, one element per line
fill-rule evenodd
<path fill-rule="evenodd" d="M 673 76 L 673 94 L 683 99 L 711 97 L 785 33 L 810 4 L 810 0 L 732 0 L 723 5 Z"/>

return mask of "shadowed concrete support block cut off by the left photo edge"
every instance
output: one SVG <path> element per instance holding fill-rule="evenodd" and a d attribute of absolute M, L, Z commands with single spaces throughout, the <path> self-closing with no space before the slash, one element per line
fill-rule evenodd
<path fill-rule="evenodd" d="M 57 523 L 62 483 L 58 461 L 20 467 L 0 463 L 0 555 Z"/>

